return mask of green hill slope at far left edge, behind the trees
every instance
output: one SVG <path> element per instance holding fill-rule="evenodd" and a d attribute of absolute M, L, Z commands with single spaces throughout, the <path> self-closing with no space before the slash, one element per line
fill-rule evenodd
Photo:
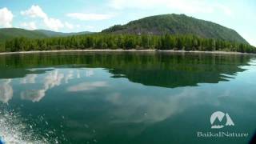
<path fill-rule="evenodd" d="M 47 38 L 46 34 L 37 31 L 23 30 L 18 28 L 4 28 L 0 29 L 0 42 L 12 38 L 26 37 L 26 38 Z"/>

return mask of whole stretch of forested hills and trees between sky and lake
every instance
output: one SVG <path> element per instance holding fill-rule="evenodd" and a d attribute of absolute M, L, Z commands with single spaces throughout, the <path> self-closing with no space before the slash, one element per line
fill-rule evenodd
<path fill-rule="evenodd" d="M 77 49 L 237 51 L 256 54 L 237 32 L 184 14 L 142 18 L 102 33 L 0 29 L 0 52 Z"/>

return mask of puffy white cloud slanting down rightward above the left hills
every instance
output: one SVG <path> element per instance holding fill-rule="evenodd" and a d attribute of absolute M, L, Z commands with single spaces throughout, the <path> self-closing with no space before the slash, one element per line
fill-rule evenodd
<path fill-rule="evenodd" d="M 59 30 L 64 27 L 64 24 L 59 19 L 49 18 L 48 15 L 38 5 L 31 6 L 30 9 L 21 11 L 22 15 L 30 16 L 31 18 L 42 18 L 44 24 L 50 28 L 50 30 Z"/>

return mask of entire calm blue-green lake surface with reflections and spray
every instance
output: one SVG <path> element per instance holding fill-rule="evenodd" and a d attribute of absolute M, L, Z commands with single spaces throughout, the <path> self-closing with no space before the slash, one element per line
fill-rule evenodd
<path fill-rule="evenodd" d="M 0 108 L 0 137 L 7 143 L 248 143 L 256 130 L 256 58 L 0 55 Z M 228 114 L 234 126 L 225 125 L 225 115 L 217 122 L 224 127 L 212 129 L 215 111 Z M 247 136 L 201 137 L 200 132 Z"/>

